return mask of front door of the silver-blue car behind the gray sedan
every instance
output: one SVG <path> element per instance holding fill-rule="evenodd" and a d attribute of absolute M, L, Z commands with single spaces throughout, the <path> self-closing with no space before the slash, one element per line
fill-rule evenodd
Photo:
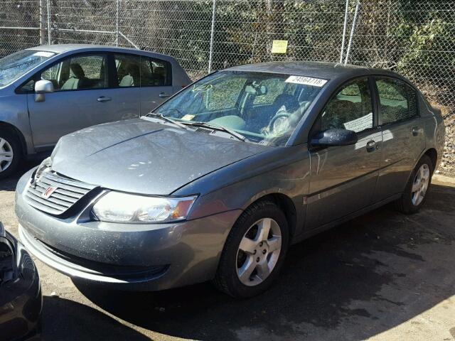
<path fill-rule="evenodd" d="M 50 80 L 54 92 L 36 102 L 27 94 L 33 144 L 38 151 L 52 148 L 65 134 L 122 119 L 134 108 L 123 108 L 122 94 L 109 89 L 107 55 L 103 53 L 74 55 L 40 72 L 34 80 Z M 139 104 L 137 109 L 139 113 Z"/>

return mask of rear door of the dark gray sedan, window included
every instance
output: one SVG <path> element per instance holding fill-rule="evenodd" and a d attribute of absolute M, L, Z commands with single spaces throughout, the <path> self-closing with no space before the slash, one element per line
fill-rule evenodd
<path fill-rule="evenodd" d="M 419 117 L 417 94 L 401 80 L 376 77 L 379 124 L 382 131 L 382 165 L 375 201 L 405 189 L 415 163 L 425 148 L 424 126 Z"/>

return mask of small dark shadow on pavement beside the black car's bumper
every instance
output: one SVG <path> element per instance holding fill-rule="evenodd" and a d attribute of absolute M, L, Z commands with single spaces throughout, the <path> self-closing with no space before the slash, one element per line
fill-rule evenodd
<path fill-rule="evenodd" d="M 150 340 L 99 310 L 58 296 L 43 297 L 43 315 L 46 315 L 41 332 L 43 341 Z M 100 328 L 93 328 L 94 322 Z"/>

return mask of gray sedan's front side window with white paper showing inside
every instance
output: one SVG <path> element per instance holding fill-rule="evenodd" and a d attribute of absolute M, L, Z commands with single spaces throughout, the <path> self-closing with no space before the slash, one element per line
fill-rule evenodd
<path fill-rule="evenodd" d="M 373 103 L 368 78 L 341 88 L 328 102 L 321 118 L 321 129 L 348 129 L 356 133 L 373 128 Z"/>

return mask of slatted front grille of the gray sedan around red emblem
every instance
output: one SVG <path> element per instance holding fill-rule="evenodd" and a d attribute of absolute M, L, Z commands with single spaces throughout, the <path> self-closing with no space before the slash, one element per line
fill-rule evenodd
<path fill-rule="evenodd" d="M 55 190 L 49 197 L 43 197 L 49 187 Z M 28 187 L 26 197 L 28 203 L 38 210 L 51 215 L 62 215 L 95 187 L 55 172 L 43 172 L 43 175 Z"/>

